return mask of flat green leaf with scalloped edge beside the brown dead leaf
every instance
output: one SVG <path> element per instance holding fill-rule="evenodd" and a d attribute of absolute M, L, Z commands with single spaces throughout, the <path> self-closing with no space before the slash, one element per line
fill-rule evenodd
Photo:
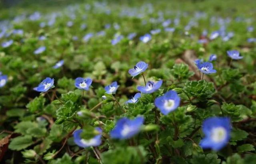
<path fill-rule="evenodd" d="M 32 145 L 34 142 L 32 141 L 32 136 L 18 136 L 13 138 L 9 144 L 9 148 L 11 150 L 22 150 Z"/>

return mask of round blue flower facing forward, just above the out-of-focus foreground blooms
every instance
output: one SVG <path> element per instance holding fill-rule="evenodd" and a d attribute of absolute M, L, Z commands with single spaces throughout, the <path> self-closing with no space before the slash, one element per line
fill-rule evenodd
<path fill-rule="evenodd" d="M 155 105 L 164 115 L 168 115 L 180 105 L 180 97 L 175 91 L 168 91 L 163 96 L 156 98 Z"/>

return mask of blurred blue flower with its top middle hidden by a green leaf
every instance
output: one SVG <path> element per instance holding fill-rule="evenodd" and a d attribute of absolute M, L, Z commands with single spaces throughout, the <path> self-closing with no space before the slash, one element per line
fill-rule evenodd
<path fill-rule="evenodd" d="M 87 148 L 90 146 L 99 146 L 101 144 L 101 136 L 102 136 L 102 129 L 99 127 L 94 128 L 99 134 L 94 136 L 91 139 L 82 139 L 80 134 L 83 132 L 82 129 L 76 130 L 74 131 L 73 135 L 74 135 L 74 142 L 82 147 L 82 148 Z"/>

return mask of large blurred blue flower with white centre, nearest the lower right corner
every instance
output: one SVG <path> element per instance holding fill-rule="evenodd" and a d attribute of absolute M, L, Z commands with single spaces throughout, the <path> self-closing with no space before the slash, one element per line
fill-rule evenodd
<path fill-rule="evenodd" d="M 210 117 L 202 125 L 205 137 L 200 141 L 202 148 L 220 150 L 230 139 L 231 124 L 228 117 Z"/>

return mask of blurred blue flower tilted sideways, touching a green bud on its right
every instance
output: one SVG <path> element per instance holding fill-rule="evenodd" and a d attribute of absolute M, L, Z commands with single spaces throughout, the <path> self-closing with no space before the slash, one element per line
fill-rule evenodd
<path fill-rule="evenodd" d="M 110 132 L 110 137 L 118 139 L 131 138 L 132 136 L 140 132 L 140 128 L 143 122 L 143 117 L 136 117 L 133 120 L 124 117 L 117 121 L 116 126 Z"/>

